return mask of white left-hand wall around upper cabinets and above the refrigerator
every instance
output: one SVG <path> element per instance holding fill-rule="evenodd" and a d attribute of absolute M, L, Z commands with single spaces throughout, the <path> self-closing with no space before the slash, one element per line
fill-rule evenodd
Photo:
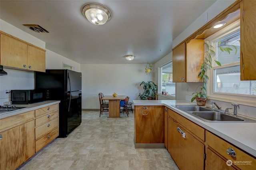
<path fill-rule="evenodd" d="M 34 36 L 12 26 L 11 24 L 0 20 L 0 30 L 20 38 L 28 43 L 45 49 L 45 42 Z M 80 64 L 66 57 L 58 55 L 46 49 L 46 69 L 62 69 L 63 63 L 74 66 L 75 71 L 80 71 Z M 13 89 L 34 89 L 34 72 L 20 71 L 14 69 L 4 69 L 8 75 L 0 76 L 0 105 L 3 102 L 10 101 L 10 94 L 4 93 L 4 88 Z"/>

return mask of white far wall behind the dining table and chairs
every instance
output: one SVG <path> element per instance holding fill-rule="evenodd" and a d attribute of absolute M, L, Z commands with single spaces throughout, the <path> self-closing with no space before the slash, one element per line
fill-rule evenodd
<path fill-rule="evenodd" d="M 154 69 L 148 75 L 145 64 L 81 64 L 82 109 L 99 109 L 98 93 L 130 97 L 138 100 L 142 81 L 153 81 Z M 154 66 L 153 66 L 154 67 Z M 132 105 L 134 107 L 134 105 Z"/>

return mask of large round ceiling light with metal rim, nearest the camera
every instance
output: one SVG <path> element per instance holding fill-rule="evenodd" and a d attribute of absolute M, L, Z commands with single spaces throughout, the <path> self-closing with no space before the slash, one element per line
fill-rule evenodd
<path fill-rule="evenodd" d="M 111 14 L 108 8 L 100 4 L 86 4 L 82 8 L 84 17 L 94 25 L 103 25 L 110 20 Z"/>

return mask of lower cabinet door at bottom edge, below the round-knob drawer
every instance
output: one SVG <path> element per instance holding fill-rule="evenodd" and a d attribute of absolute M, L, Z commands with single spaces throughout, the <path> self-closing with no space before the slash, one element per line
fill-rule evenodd
<path fill-rule="evenodd" d="M 235 168 L 228 166 L 226 161 L 207 148 L 205 170 L 216 170 L 217 167 L 220 170 L 235 170 Z"/>

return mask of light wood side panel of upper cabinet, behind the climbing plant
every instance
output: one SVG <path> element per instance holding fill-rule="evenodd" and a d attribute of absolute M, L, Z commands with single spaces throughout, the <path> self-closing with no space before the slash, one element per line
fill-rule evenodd
<path fill-rule="evenodd" d="M 186 82 L 202 82 L 198 73 L 204 63 L 204 39 L 191 40 L 186 49 Z"/>

